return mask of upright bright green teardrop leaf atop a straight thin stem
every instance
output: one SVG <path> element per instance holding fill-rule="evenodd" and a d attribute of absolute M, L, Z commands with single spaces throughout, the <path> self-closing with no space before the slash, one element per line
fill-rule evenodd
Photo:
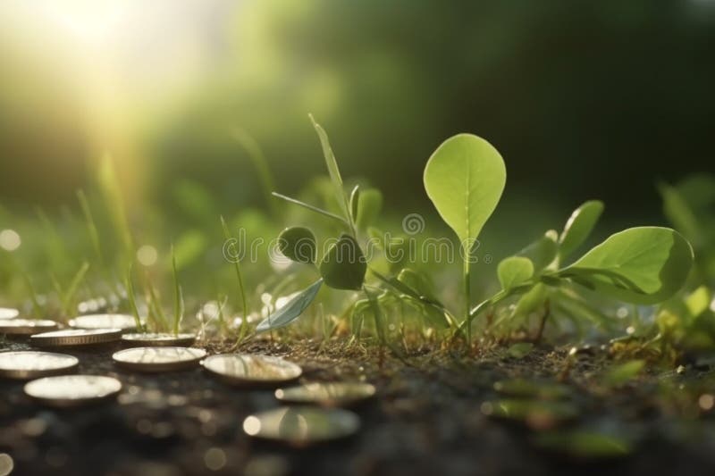
<path fill-rule="evenodd" d="M 425 166 L 425 190 L 463 245 L 471 245 L 496 208 L 507 181 L 501 155 L 489 142 L 458 134 L 437 147 Z"/>

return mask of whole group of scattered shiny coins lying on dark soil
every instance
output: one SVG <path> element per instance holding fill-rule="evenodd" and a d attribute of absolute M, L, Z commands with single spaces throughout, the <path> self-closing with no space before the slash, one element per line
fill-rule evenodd
<path fill-rule="evenodd" d="M 252 438 L 292 447 L 354 435 L 360 428 L 360 417 L 339 407 L 354 406 L 375 395 L 373 385 L 359 381 L 296 385 L 303 369 L 282 357 L 206 356 L 206 350 L 189 347 L 196 341 L 195 334 L 125 333 L 137 329 L 136 319 L 129 314 L 81 315 L 69 322 L 71 329 L 63 330 L 58 330 L 54 321 L 19 316 L 17 310 L 0 308 L 0 334 L 29 336 L 29 344 L 37 347 L 75 348 L 122 342 L 128 348 L 114 352 L 112 359 L 124 370 L 176 372 L 194 369 L 200 363 L 206 373 L 232 386 L 272 388 L 274 397 L 288 406 L 248 415 L 243 431 Z M 24 386 L 25 394 L 43 405 L 85 405 L 108 400 L 122 390 L 122 383 L 112 377 L 67 375 L 79 365 L 77 357 L 55 352 L 0 352 L 0 377 L 30 380 Z"/>

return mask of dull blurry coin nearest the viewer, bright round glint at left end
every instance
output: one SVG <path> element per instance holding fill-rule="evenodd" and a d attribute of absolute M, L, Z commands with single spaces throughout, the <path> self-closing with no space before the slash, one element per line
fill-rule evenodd
<path fill-rule="evenodd" d="M 360 419 L 355 413 L 314 406 L 276 408 L 250 415 L 243 421 L 243 431 L 248 436 L 293 447 L 348 438 L 359 428 Z"/>

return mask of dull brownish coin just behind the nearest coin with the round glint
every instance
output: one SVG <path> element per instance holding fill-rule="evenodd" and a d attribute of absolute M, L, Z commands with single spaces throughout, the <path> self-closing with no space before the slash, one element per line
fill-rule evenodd
<path fill-rule="evenodd" d="M 369 383 L 315 382 L 297 387 L 278 388 L 275 390 L 275 397 L 290 404 L 349 406 L 374 397 L 374 392 L 374 385 Z"/>

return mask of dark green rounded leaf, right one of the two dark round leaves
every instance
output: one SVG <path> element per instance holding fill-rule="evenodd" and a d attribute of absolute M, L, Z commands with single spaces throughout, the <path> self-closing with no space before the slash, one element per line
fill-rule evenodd
<path fill-rule="evenodd" d="M 320 274 L 325 284 L 335 289 L 360 289 L 365 281 L 367 263 L 355 238 L 341 235 L 325 253 Z"/>

